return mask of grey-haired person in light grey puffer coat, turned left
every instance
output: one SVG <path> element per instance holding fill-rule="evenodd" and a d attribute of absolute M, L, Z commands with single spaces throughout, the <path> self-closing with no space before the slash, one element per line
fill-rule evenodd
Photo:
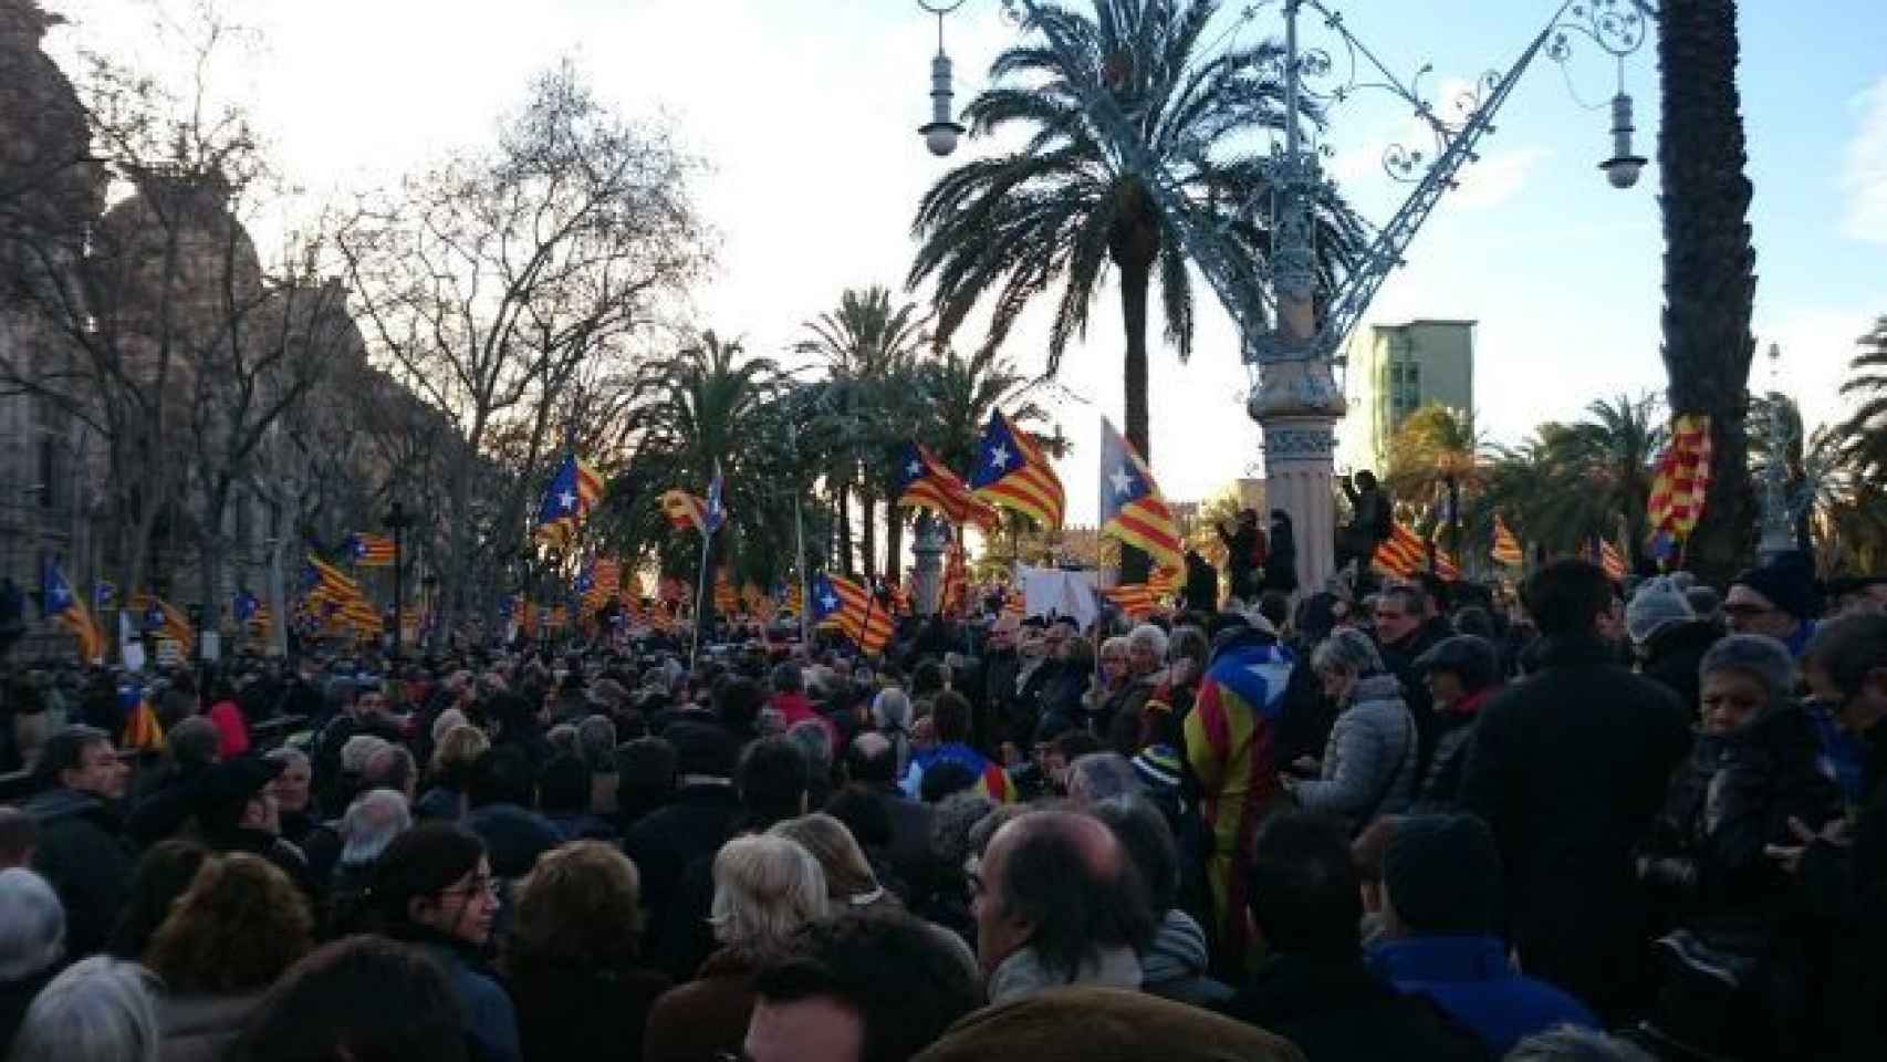
<path fill-rule="evenodd" d="M 1298 807 L 1338 815 L 1361 830 L 1378 815 L 1394 815 L 1415 792 L 1421 736 L 1402 700 L 1402 685 L 1383 670 L 1383 658 L 1359 630 L 1338 630 L 1311 653 L 1323 692 L 1338 704 L 1323 760 L 1300 756 L 1293 770 L 1315 779 L 1283 775 Z"/>

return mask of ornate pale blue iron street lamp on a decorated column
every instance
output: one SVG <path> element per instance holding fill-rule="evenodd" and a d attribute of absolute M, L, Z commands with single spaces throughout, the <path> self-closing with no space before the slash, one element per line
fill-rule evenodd
<path fill-rule="evenodd" d="M 962 0 L 944 8 L 955 9 Z M 919 0 L 928 11 L 934 2 Z M 1540 57 L 1564 64 L 1572 55 L 1572 36 L 1585 36 L 1619 62 L 1621 91 L 1611 100 L 1613 157 L 1602 164 L 1617 189 L 1638 181 L 1645 160 L 1632 155 L 1632 108 L 1623 92 L 1625 58 L 1645 40 L 1657 9 L 1649 0 L 1564 0 L 1545 26 L 1528 41 L 1508 70 L 1491 70 L 1455 100 L 1457 113 L 1444 117 L 1421 91 L 1415 77 L 1400 77 L 1357 34 L 1349 30 L 1336 0 L 1283 0 L 1285 55 L 1279 77 L 1285 85 L 1285 136 L 1266 160 L 1268 181 L 1261 202 L 1242 204 L 1234 217 L 1266 217 L 1272 234 L 1270 260 L 1259 275 L 1234 266 L 1227 247 L 1232 224 L 1223 211 L 1200 211 L 1187 200 L 1183 185 L 1153 157 L 1136 123 L 1098 72 L 1087 72 L 1083 45 L 1070 40 L 1053 19 L 1040 19 L 1036 0 L 1004 0 L 1021 11 L 1017 19 L 1036 28 L 1047 47 L 1060 53 L 1068 70 L 1077 72 L 1070 91 L 1094 123 L 1110 153 L 1123 170 L 1136 174 L 1172 226 L 1187 257 L 1213 287 L 1232 317 L 1244 345 L 1251 379 L 1245 409 L 1264 434 L 1266 502 L 1289 511 L 1298 526 L 1298 581 L 1321 587 L 1334 560 L 1336 513 L 1330 481 L 1334 477 L 1336 421 L 1345 413 L 1336 368 L 1344 340 L 1362 319 L 1389 274 L 1402 264 L 1410 241 L 1428 221 L 1436 204 L 1459 187 L 1461 170 L 1478 158 L 1478 145 L 1495 130 L 1495 115 L 1508 102 L 1521 75 Z M 1259 4 L 1244 9 L 1251 21 Z M 942 11 L 940 11 L 942 15 Z M 1298 19 L 1310 15 L 1334 38 L 1330 49 L 1300 47 Z M 942 32 L 942 30 L 940 30 Z M 1340 104 L 1362 89 L 1387 91 L 1402 100 L 1434 136 L 1434 149 L 1391 145 L 1383 166 L 1391 177 L 1411 185 L 1408 198 L 1383 223 L 1374 241 L 1349 272 L 1325 287 L 1317 277 L 1317 204 L 1330 191 L 1323 174 L 1313 128 L 1302 123 L 1300 100 Z M 928 128 L 928 126 L 927 126 Z M 955 147 L 955 140 L 951 140 Z M 1217 219 L 1213 215 L 1219 215 Z"/>

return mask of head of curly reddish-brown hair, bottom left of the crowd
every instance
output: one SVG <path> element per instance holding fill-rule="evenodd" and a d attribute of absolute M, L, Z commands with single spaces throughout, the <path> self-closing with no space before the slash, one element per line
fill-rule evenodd
<path fill-rule="evenodd" d="M 209 1062 L 262 992 L 313 947 L 313 915 L 276 864 L 209 856 L 151 936 L 143 964 L 164 983 L 164 1062 Z"/>

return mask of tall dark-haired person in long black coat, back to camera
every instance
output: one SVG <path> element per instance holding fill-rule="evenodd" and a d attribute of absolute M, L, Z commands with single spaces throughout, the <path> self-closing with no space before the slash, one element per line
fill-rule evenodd
<path fill-rule="evenodd" d="M 1585 560 L 1528 581 L 1540 672 L 1481 709 L 1461 779 L 1461 805 L 1500 843 L 1521 968 L 1610 1022 L 1638 1002 L 1645 915 L 1632 853 L 1691 747 L 1678 698 L 1600 639 L 1613 602 Z"/>

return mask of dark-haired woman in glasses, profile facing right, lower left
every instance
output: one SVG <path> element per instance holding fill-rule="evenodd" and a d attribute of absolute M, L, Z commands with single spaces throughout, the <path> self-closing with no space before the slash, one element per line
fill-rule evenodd
<path fill-rule="evenodd" d="M 498 915 L 485 841 L 453 822 L 421 822 L 379 856 L 370 904 L 381 934 L 445 970 L 477 1056 L 521 1062 L 517 1013 L 483 956 Z"/>

